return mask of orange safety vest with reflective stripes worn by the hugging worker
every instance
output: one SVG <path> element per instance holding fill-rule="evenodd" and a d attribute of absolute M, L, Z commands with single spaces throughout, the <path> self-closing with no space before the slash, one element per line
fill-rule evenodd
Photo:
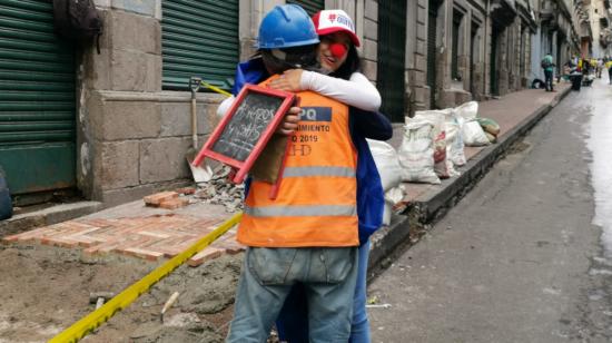
<path fill-rule="evenodd" d="M 269 198 L 270 184 L 251 182 L 238 242 L 263 247 L 356 246 L 357 151 L 348 107 L 313 91 L 297 95 L 299 126 L 289 143 L 278 196 Z"/>

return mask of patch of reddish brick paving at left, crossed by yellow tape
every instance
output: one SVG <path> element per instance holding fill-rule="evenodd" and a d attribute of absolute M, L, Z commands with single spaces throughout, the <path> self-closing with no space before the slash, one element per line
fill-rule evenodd
<path fill-rule="evenodd" d="M 86 255 L 117 253 L 158 261 L 178 255 L 221 223 L 221 218 L 203 219 L 176 214 L 116 219 L 81 218 L 8 236 L 2 242 L 82 248 Z M 236 242 L 234 227 L 187 263 L 198 266 L 221 254 L 241 251 L 244 246 Z"/>

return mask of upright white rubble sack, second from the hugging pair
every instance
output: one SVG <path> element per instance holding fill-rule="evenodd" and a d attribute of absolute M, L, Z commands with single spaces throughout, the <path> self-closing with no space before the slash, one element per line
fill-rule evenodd
<path fill-rule="evenodd" d="M 406 118 L 404 137 L 397 149 L 404 182 L 440 184 L 434 171 L 434 125 L 424 118 Z"/>

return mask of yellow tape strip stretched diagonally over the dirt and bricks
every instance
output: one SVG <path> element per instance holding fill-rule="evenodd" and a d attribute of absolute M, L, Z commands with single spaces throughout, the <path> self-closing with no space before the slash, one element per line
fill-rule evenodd
<path fill-rule="evenodd" d="M 218 237 L 225 234 L 228 229 L 240 222 L 243 213 L 235 214 L 231 218 L 223 223 L 214 232 L 206 235 L 189 248 L 182 253 L 176 255 L 170 261 L 157 267 L 150 272 L 147 276 L 136 282 L 131 286 L 127 287 L 124 292 L 111 298 L 108 303 L 103 304 L 100 308 L 91 312 L 87 316 L 82 317 L 72 326 L 66 329 L 57 336 L 52 337 L 50 343 L 65 343 L 65 342 L 78 342 L 85 337 L 88 333 L 96 330 L 98 326 L 110 320 L 117 312 L 126 308 L 140 295 L 149 291 L 158 281 L 166 277 L 174 270 L 185 263 L 195 254 L 207 247 L 210 243 L 215 242 Z"/>

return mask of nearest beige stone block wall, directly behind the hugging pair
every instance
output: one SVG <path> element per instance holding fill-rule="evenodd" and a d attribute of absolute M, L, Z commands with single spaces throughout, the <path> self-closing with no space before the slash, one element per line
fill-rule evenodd
<path fill-rule="evenodd" d="M 78 187 L 106 206 L 191 182 L 190 92 L 161 89 L 161 0 L 96 0 L 105 33 L 78 66 Z M 263 16 L 284 0 L 240 0 L 240 60 L 255 52 Z M 377 1 L 327 0 L 345 9 L 362 38 L 364 74 L 376 80 Z M 199 141 L 218 122 L 225 97 L 198 92 Z"/>

